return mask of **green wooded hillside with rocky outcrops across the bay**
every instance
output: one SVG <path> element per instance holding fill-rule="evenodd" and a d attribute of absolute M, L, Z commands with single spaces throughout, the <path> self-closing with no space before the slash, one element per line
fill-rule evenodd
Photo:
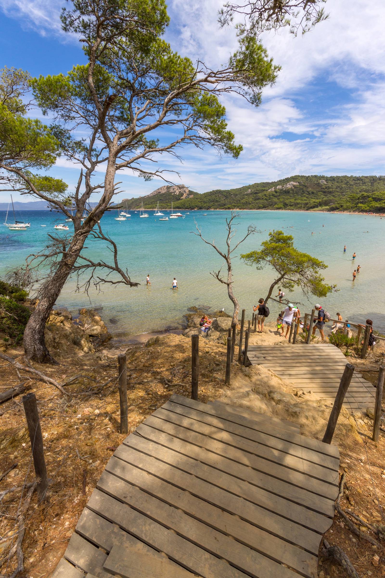
<path fill-rule="evenodd" d="M 160 192 L 162 190 L 162 192 Z M 158 192 L 159 191 L 159 192 Z M 188 191 L 188 195 L 186 195 Z M 145 197 L 125 199 L 129 209 L 287 209 L 385 212 L 385 176 L 294 175 L 274 182 L 198 194 L 185 186 L 161 187 Z"/>

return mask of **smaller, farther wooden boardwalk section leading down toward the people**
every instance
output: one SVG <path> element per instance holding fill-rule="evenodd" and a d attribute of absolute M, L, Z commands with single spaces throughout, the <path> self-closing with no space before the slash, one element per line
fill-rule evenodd
<path fill-rule="evenodd" d="M 319 399 L 334 401 L 339 381 L 347 363 L 342 351 L 331 343 L 283 343 L 252 345 L 248 358 L 253 365 L 263 365 L 298 389 L 311 391 Z M 375 388 L 354 372 L 345 397 L 346 409 L 366 409 L 375 404 Z"/>

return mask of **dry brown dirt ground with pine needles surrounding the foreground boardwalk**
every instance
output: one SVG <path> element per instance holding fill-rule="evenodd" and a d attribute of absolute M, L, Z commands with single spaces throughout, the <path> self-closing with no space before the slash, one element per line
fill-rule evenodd
<path fill-rule="evenodd" d="M 225 339 L 221 341 L 200 340 L 200 401 L 220 398 L 263 411 L 300 424 L 301 432 L 306 435 L 322 438 L 330 405 L 312 399 L 311 395 L 294 395 L 296 391 L 270 370 L 234 364 L 231 386 L 227 388 Z M 277 341 L 282 338 L 275 335 L 274 324 L 268 325 L 264 334 L 251 336 L 251 343 Z M 42 381 L 29 382 L 29 391 L 34 391 L 38 398 L 51 481 L 47 501 L 39 504 L 35 492 L 25 514 L 25 561 L 20 575 L 23 578 L 50 576 L 106 462 L 125 438 L 119 433 L 117 355 L 122 351 L 127 353 L 129 432 L 173 393 L 190 395 L 190 339 L 170 334 L 153 338 L 151 342 L 149 346 L 110 342 L 95 353 L 83 355 L 79 352 L 71 355 L 66 349 L 58 366 L 32 364 L 61 384 L 76 379 L 66 386 L 72 397 L 63 397 L 54 386 Z M 383 353 L 378 347 L 367 360 L 349 361 L 374 375 Z M 10 349 L 7 354 L 24 364 L 20 348 Z M 19 381 L 13 367 L 3 360 L 0 360 L 0 375 L 3 388 L 0 392 Z M 0 476 L 17 464 L 0 481 L 1 497 L 1 492 L 33 481 L 34 472 L 21 397 L 0 405 L 0 422 Z M 341 473 L 346 475 L 341 506 L 376 526 L 383 523 L 385 504 L 385 437 L 380 433 L 379 443 L 373 443 L 371 428 L 372 420 L 368 416 L 357 413 L 352 417 L 342 410 L 334 443 L 341 453 Z M 9 492 L 0 502 L 0 572 L 5 576 L 12 573 L 16 563 L 15 557 L 8 562 L 8 552 L 17 528 L 14 517 L 20 503 L 20 490 Z M 356 527 L 375 537 L 362 524 L 357 523 Z M 379 540 L 380 549 L 372 547 L 353 535 L 339 516 L 335 517 L 326 539 L 331 545 L 341 546 L 358 575 L 385 576 L 385 542 L 382 540 Z M 346 573 L 341 566 L 321 558 L 319 576 L 346 576 Z"/>

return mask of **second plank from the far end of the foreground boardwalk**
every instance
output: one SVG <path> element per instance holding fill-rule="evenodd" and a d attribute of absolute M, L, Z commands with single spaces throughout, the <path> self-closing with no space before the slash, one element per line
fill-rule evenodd
<path fill-rule="evenodd" d="M 306 473 L 308 470 L 312 469 L 313 473 L 316 473 L 320 479 L 327 479 L 328 474 L 326 468 L 329 470 L 338 470 L 339 461 L 337 458 L 320 454 L 317 451 L 309 450 L 306 447 L 294 445 L 285 440 L 274 438 L 266 433 L 258 432 L 255 429 L 238 425 L 224 418 L 218 418 L 208 413 L 192 409 L 186 405 L 180 405 L 180 403 L 168 401 L 162 406 L 162 409 L 163 408 L 169 412 L 179 413 L 183 416 L 192 418 L 193 420 L 202 421 L 203 423 L 213 425 L 218 429 L 223 429 L 227 433 L 241 436 L 246 440 L 254 442 L 258 444 L 259 448 L 263 448 L 263 451 L 268 455 L 278 458 L 279 463 L 284 461 L 287 464 L 293 464 L 293 466 L 296 466 L 296 459 L 293 458 L 297 458 L 301 460 L 303 464 L 301 465 L 301 468 L 303 468 Z M 324 469 L 326 470 L 325 472 L 323 471 Z M 332 479 L 334 479 L 334 477 L 332 477 Z"/>

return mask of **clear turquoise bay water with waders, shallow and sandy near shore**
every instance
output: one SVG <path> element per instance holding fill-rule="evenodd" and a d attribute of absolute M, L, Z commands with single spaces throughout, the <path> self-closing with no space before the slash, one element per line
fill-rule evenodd
<path fill-rule="evenodd" d="M 185 214 L 185 211 L 182 213 Z M 196 220 L 203 236 L 211 241 L 215 239 L 215 243 L 225 250 L 225 218 L 229 217 L 230 212 L 208 211 L 207 216 L 203 213 L 193 211 L 186 214 L 184 219 L 169 221 L 159 221 L 153 211 L 148 212 L 148 218 L 139 218 L 139 212 L 131 212 L 132 217 L 126 221 L 115 221 L 117 215 L 114 212 L 104 215 L 101 223 L 103 231 L 117 243 L 119 264 L 128 269 L 133 281 L 141 283 L 137 288 L 118 285 L 104 286 L 101 293 L 90 291 L 92 306 L 103 308 L 101 314 L 111 332 L 139 334 L 177 327 L 186 309 L 192 305 L 211 306 L 215 309 L 225 307 L 227 312 L 231 312 L 226 286 L 210 275 L 210 271 L 218 271 L 224 261 L 212 247 L 192 234 Z M 28 254 L 41 249 L 46 243 L 47 234 L 54 232 L 54 224 L 60 222 L 57 215 L 49 211 L 21 212 L 18 213 L 19 218 L 31 221 L 28 231 L 8 231 L 3 225 L 5 212 L 0 212 L 0 276 L 7 269 L 22 264 Z M 239 255 L 257 249 L 261 241 L 267 238 L 270 229 L 280 228 L 294 236 L 298 249 L 322 259 L 328 265 L 324 276 L 329 283 L 337 283 L 339 291 L 322 299 L 321 303 L 332 316 L 339 311 L 343 318 L 352 321 L 364 321 L 370 317 L 375 328 L 385 332 L 385 218 L 331 213 L 242 211 L 236 222 L 237 235 L 234 241 L 245 234 L 249 224 L 261 231 L 246 239 L 235 251 L 233 258 L 234 294 L 241 308 L 245 307 L 250 316 L 252 305 L 257 303 L 259 297 L 266 296 L 274 273 L 268 269 L 256 271 L 246 266 L 240 261 Z M 41 227 L 42 224 L 46 227 Z M 345 254 L 344 244 L 347 246 Z M 111 258 L 110 251 L 100 241 L 89 239 L 86 245 L 92 258 Z M 353 251 L 357 253 L 355 262 L 352 261 Z M 357 265 L 361 265 L 361 272 L 353 284 L 352 273 Z M 149 287 L 145 284 L 147 273 L 151 280 Z M 226 273 L 225 267 L 223 273 Z M 178 291 L 171 290 L 173 277 L 177 278 L 180 287 Z M 79 307 L 89 307 L 87 295 L 76 293 L 74 289 L 74 280 L 69 280 L 57 306 L 68 307 L 73 312 Z M 290 298 L 304 303 L 301 310 L 306 311 L 311 309 L 313 303 L 320 301 L 312 299 L 309 302 L 298 290 L 290 294 Z M 271 320 L 278 309 L 278 303 L 270 303 Z"/>

